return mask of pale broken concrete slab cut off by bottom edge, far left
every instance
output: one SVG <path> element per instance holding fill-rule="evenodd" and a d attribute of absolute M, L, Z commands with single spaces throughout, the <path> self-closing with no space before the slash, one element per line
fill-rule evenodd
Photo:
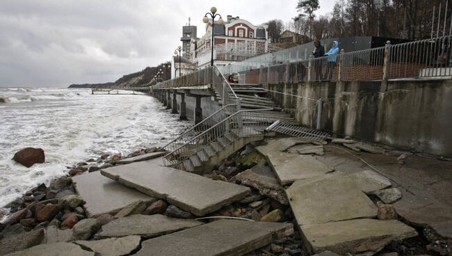
<path fill-rule="evenodd" d="M 43 243 L 26 250 L 10 253 L 5 256 L 95 256 L 94 252 L 83 250 L 74 243 Z"/>

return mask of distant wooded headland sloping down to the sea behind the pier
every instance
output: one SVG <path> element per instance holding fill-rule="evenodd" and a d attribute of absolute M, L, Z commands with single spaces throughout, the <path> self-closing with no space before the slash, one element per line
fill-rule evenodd
<path fill-rule="evenodd" d="M 146 67 L 144 70 L 124 74 L 120 79 L 114 81 L 113 83 L 83 83 L 83 84 L 71 84 L 69 88 L 124 88 L 124 87 L 139 87 L 149 84 L 159 70 L 163 71 L 161 77 L 163 79 L 168 76 L 170 77 L 170 68 L 164 68 L 163 65 L 168 66 L 169 63 L 162 63 L 156 67 Z M 168 74 L 165 74 L 168 72 Z"/>

